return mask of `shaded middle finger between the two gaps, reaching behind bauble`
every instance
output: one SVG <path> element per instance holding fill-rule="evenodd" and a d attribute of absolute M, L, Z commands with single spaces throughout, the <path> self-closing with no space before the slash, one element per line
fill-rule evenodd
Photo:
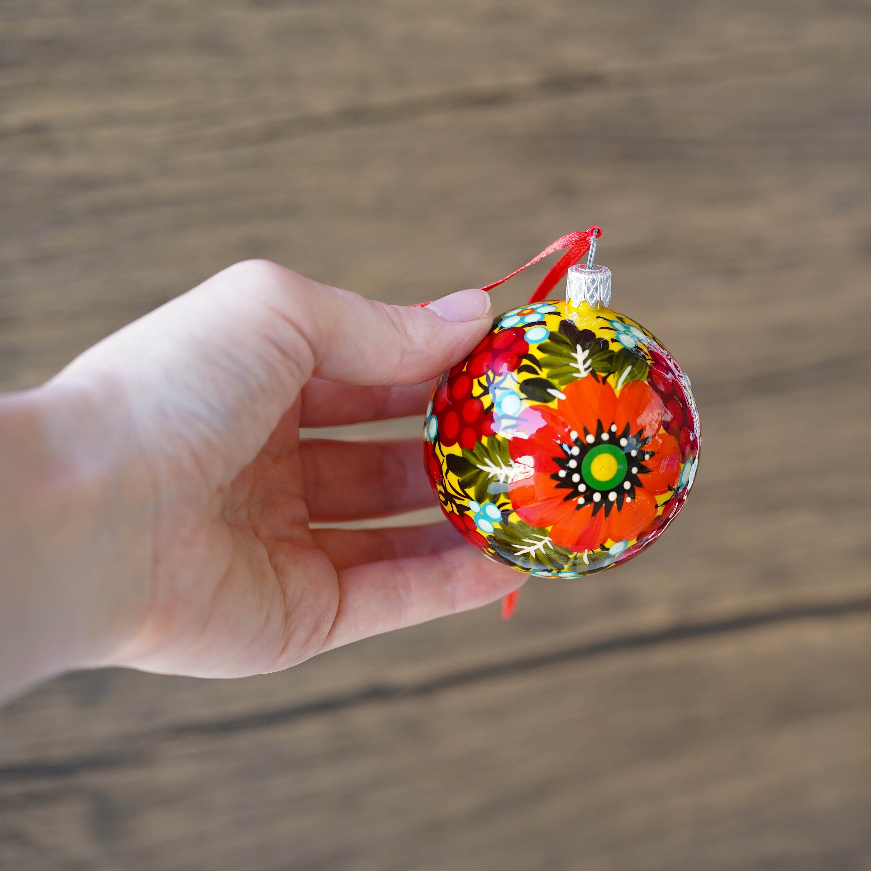
<path fill-rule="evenodd" d="M 436 503 L 419 439 L 300 442 L 309 517 L 314 523 L 387 517 Z"/>

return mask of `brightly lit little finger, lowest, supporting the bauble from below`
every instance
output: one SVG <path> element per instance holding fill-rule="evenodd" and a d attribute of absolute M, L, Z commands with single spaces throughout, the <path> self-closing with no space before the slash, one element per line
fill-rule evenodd
<path fill-rule="evenodd" d="M 323 649 L 469 611 L 517 590 L 527 577 L 465 543 L 430 556 L 344 569 L 339 611 Z"/>

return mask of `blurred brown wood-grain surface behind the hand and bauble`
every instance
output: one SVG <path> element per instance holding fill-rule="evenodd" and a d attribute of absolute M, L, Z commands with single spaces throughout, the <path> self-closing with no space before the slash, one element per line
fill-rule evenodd
<path fill-rule="evenodd" d="M 3 0 L 5 388 L 234 260 L 409 303 L 598 223 L 704 447 L 648 554 L 507 624 L 17 700 L 0 868 L 868 871 L 869 37 L 866 0 Z"/>

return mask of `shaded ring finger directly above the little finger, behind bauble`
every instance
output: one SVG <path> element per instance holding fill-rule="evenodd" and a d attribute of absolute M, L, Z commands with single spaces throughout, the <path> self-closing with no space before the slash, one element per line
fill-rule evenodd
<path fill-rule="evenodd" d="M 385 559 L 426 557 L 464 544 L 447 521 L 381 530 L 312 530 L 312 535 L 337 571 Z"/>

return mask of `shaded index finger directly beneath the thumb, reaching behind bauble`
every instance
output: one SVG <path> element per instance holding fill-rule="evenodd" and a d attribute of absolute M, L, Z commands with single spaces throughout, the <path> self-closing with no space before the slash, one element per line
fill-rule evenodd
<path fill-rule="evenodd" d="M 302 389 L 303 427 L 338 427 L 422 415 L 433 381 L 411 387 L 358 387 L 312 378 Z"/>

